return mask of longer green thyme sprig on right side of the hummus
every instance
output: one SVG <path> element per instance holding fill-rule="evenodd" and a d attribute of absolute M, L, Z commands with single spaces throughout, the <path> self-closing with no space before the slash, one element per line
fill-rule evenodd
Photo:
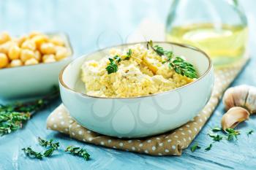
<path fill-rule="evenodd" d="M 151 47 L 151 49 L 160 56 L 165 55 L 167 60 L 162 63 L 168 63 L 169 68 L 173 69 L 177 74 L 191 79 L 197 78 L 197 72 L 194 66 L 183 58 L 173 55 L 172 51 L 164 50 L 162 47 L 159 47 L 159 45 L 154 46 L 152 40 L 147 43 L 147 47 Z"/>

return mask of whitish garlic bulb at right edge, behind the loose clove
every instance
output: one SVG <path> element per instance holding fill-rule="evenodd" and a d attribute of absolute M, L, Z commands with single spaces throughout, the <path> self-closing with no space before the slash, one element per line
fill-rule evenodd
<path fill-rule="evenodd" d="M 238 85 L 228 88 L 223 96 L 225 109 L 244 107 L 251 114 L 256 113 L 256 87 L 251 85 Z"/>

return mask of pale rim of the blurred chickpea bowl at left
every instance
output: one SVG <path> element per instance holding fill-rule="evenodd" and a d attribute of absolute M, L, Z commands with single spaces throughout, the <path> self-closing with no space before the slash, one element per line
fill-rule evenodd
<path fill-rule="evenodd" d="M 44 33 L 44 32 L 42 32 L 42 34 L 45 34 L 45 35 L 48 35 L 48 36 L 65 36 L 65 40 L 66 40 L 66 42 L 65 42 L 65 44 L 67 45 L 67 47 L 69 48 L 69 51 L 70 51 L 70 53 L 69 53 L 69 55 L 67 56 L 67 58 L 64 58 L 64 59 L 62 59 L 62 60 L 60 60 L 60 61 L 55 61 L 55 62 L 52 62 L 52 63 L 37 63 L 37 64 L 34 64 L 34 65 L 27 65 L 27 66 L 15 66 L 15 67 L 7 67 L 7 68 L 2 68 L 2 69 L 0 69 L 0 72 L 2 71 L 2 70 L 10 70 L 10 69 L 23 69 L 24 67 L 37 67 L 37 66 L 42 66 L 42 65 L 52 65 L 52 64 L 54 64 L 54 63 L 61 63 L 61 62 L 63 62 L 63 61 L 69 61 L 69 59 L 72 59 L 72 58 L 74 58 L 74 50 L 73 50 L 73 48 L 72 48 L 72 45 L 71 45 L 71 42 L 70 42 L 70 38 L 69 38 L 69 35 L 67 34 L 67 33 L 65 33 L 65 32 L 52 32 L 52 33 Z"/>

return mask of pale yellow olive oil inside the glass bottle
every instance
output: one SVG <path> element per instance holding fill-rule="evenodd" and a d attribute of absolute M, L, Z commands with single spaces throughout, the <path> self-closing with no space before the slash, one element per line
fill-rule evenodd
<path fill-rule="evenodd" d="M 248 28 L 192 24 L 176 26 L 167 33 L 167 41 L 193 45 L 205 51 L 214 64 L 232 63 L 242 58 L 247 45 Z"/>

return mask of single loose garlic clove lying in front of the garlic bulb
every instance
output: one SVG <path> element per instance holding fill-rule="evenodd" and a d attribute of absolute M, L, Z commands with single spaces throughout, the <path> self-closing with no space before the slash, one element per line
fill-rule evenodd
<path fill-rule="evenodd" d="M 249 119 L 249 112 L 243 107 L 232 107 L 222 116 L 222 129 L 235 128 L 236 125 Z"/>

